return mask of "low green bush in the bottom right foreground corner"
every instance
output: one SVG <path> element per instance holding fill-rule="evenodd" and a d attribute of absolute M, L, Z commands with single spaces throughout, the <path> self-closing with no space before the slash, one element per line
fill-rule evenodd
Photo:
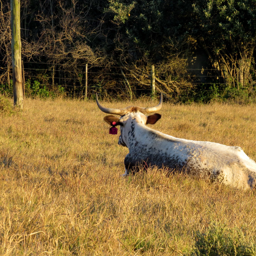
<path fill-rule="evenodd" d="M 238 228 L 213 223 L 205 232 L 195 232 L 191 256 L 255 256 L 256 244 Z"/>

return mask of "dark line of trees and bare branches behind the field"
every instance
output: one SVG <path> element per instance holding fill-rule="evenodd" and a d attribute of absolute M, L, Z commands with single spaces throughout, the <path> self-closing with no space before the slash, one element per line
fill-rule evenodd
<path fill-rule="evenodd" d="M 0 0 L 2 86 L 11 84 L 10 35 L 10 3 Z M 34 75 L 38 88 L 78 92 L 88 63 L 93 90 L 107 81 L 106 93 L 121 94 L 122 74 L 143 94 L 154 64 L 166 98 L 255 95 L 256 0 L 21 0 L 21 38 L 28 88 Z M 206 82 L 188 69 L 195 52 L 207 56 Z"/>

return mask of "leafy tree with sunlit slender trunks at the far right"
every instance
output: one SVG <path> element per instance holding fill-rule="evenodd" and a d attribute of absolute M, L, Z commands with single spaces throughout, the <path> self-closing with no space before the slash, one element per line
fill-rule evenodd
<path fill-rule="evenodd" d="M 207 52 L 213 68 L 233 86 L 252 84 L 256 46 L 255 0 L 194 0 L 190 33 Z"/>

